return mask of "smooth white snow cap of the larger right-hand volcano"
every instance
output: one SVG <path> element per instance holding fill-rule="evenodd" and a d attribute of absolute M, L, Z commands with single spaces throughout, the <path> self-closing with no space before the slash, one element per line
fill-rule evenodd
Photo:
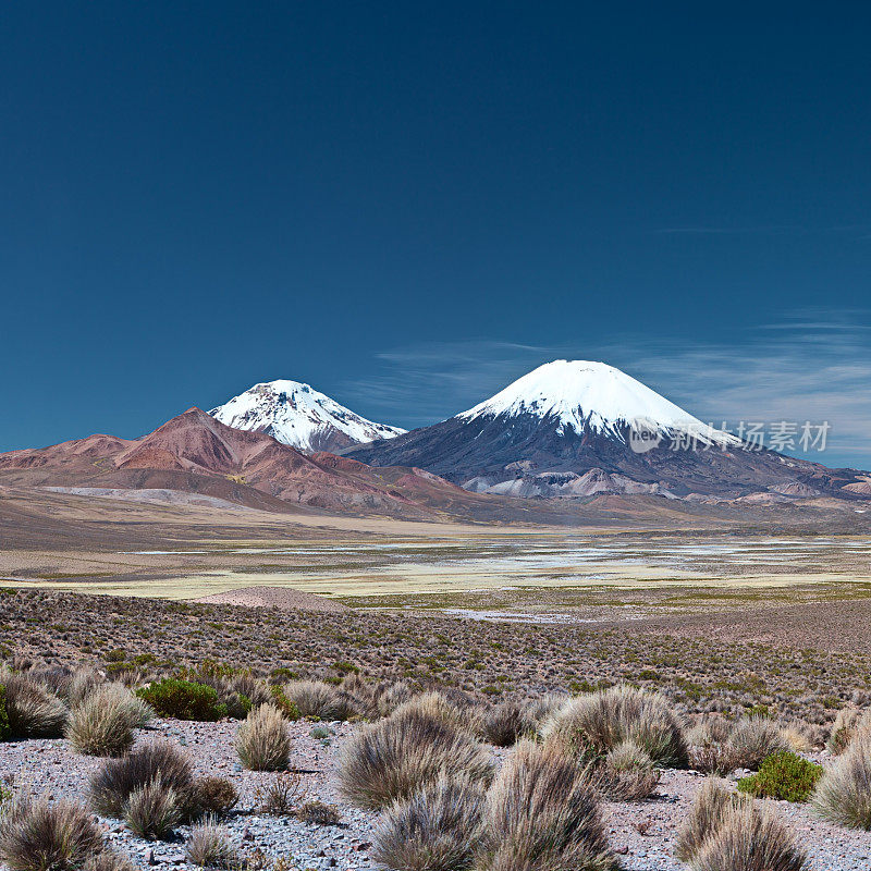
<path fill-rule="evenodd" d="M 561 433 L 592 430 L 621 442 L 627 427 L 642 426 L 664 437 L 686 432 L 701 442 L 739 443 L 619 369 L 591 360 L 545 363 L 457 418 L 501 415 L 556 419 Z"/>

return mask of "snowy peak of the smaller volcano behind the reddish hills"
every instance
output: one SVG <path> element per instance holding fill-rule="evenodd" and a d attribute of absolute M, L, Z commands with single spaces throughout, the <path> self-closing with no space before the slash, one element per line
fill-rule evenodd
<path fill-rule="evenodd" d="M 255 384 L 209 414 L 228 427 L 266 432 L 304 453 L 334 453 L 405 432 L 367 420 L 299 381 Z"/>

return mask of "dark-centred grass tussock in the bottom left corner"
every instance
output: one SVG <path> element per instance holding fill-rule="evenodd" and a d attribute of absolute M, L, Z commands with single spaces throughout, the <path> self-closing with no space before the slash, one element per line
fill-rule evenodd
<path fill-rule="evenodd" d="M 72 801 L 24 797 L 0 813 L 0 858 L 12 871 L 74 871 L 100 849 L 100 830 Z"/>

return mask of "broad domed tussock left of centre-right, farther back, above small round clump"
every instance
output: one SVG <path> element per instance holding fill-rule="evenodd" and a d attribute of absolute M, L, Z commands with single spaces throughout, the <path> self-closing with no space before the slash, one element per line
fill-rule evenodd
<path fill-rule="evenodd" d="M 612 687 L 568 701 L 548 721 L 542 735 L 581 758 L 604 756 L 628 740 L 657 764 L 685 765 L 687 747 L 672 708 L 658 692 Z"/>

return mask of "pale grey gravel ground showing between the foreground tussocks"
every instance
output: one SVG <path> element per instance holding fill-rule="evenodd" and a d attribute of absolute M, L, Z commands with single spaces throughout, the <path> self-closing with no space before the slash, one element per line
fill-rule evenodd
<path fill-rule="evenodd" d="M 359 811 L 341 801 L 336 792 L 336 755 L 343 740 L 353 732 L 349 724 L 333 723 L 329 743 L 311 737 L 312 725 L 291 724 L 294 738 L 292 765 L 303 772 L 306 799 L 336 805 L 341 813 L 338 826 L 321 826 L 293 818 L 278 818 L 255 811 L 255 790 L 274 776 L 244 771 L 238 764 L 233 739 L 238 724 L 186 723 L 157 721 L 139 740 L 160 736 L 184 747 L 198 774 L 229 777 L 240 790 L 236 811 L 225 821 L 232 839 L 246 851 L 261 849 L 270 858 L 283 858 L 290 868 L 376 869 L 369 858 L 373 813 Z M 823 764 L 825 755 L 818 759 Z M 90 773 L 99 760 L 78 756 L 65 740 L 28 740 L 0 745 L 0 775 L 11 780 L 17 790 L 29 786 L 34 793 L 49 793 L 56 798 L 84 800 Z M 627 871 L 671 871 L 682 869 L 672 857 L 676 830 L 686 817 L 692 798 L 702 783 L 695 772 L 667 771 L 657 795 L 646 801 L 606 806 L 611 843 Z M 871 866 L 871 833 L 854 832 L 815 819 L 799 805 L 771 802 L 806 846 L 812 871 L 867 871 Z M 171 843 L 147 842 L 132 835 L 118 820 L 102 820 L 108 837 L 140 867 L 174 871 L 193 869 L 184 857 L 186 826 Z"/>

